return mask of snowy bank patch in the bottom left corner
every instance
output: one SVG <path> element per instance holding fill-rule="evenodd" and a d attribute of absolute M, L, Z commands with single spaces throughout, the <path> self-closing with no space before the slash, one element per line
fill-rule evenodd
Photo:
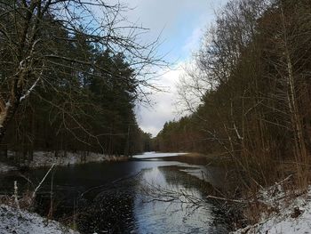
<path fill-rule="evenodd" d="M 0 233 L 2 234 L 78 234 L 59 222 L 47 221 L 38 214 L 0 205 Z"/>

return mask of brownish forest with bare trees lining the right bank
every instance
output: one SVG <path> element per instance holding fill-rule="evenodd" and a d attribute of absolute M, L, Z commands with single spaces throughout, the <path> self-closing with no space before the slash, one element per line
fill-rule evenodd
<path fill-rule="evenodd" d="M 307 186 L 310 12 L 308 0 L 230 1 L 180 79 L 190 114 L 163 126 L 156 149 L 231 157 L 257 185 L 295 173 Z"/>

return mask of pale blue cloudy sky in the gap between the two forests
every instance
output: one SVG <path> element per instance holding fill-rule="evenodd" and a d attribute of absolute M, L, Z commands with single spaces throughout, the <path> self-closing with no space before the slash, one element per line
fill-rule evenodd
<path fill-rule="evenodd" d="M 122 1 L 121 1 L 122 2 Z M 157 36 L 162 42 L 159 55 L 171 63 L 171 69 L 159 70 L 156 84 L 163 92 L 150 96 L 151 107 L 138 106 L 136 110 L 140 128 L 153 136 L 163 128 L 166 121 L 178 119 L 176 107 L 177 88 L 183 67 L 192 59 L 204 31 L 215 20 L 214 12 L 227 0 L 124 0 L 131 11 L 126 17 L 132 22 L 149 28 L 142 40 L 153 41 Z"/>

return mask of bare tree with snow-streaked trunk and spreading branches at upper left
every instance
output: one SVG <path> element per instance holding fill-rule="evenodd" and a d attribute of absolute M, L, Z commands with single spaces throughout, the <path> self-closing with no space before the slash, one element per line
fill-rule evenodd
<path fill-rule="evenodd" d="M 151 86 L 146 77 L 150 75 L 148 67 L 163 65 L 163 61 L 156 58 L 157 41 L 139 42 L 147 28 L 127 22 L 123 17 L 126 10 L 122 4 L 103 0 L 0 1 L 0 141 L 20 104 L 36 94 L 38 87 L 49 86 L 61 93 L 59 87 L 68 85 L 70 91 L 64 94 L 74 103 L 71 94 L 78 93 L 75 87 L 83 85 L 80 74 L 109 75 L 107 68 L 98 66 L 87 54 L 70 54 L 68 48 L 77 46 L 79 34 L 98 50 L 123 53 L 135 70 L 136 91 L 144 95 L 143 86 Z M 125 77 L 117 78 L 120 83 L 126 81 Z"/>

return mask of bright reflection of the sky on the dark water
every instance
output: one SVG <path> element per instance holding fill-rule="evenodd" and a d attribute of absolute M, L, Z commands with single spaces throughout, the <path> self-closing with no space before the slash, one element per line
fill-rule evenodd
<path fill-rule="evenodd" d="M 203 199 L 202 193 L 180 179 L 177 179 L 176 173 L 163 167 L 143 173 L 140 186 L 147 187 L 147 191 L 138 194 L 134 202 L 134 217 L 139 233 L 210 231 L 213 221 L 211 205 L 204 203 L 203 206 L 196 206 L 187 196 Z M 179 181 L 186 182 L 186 185 Z"/>

